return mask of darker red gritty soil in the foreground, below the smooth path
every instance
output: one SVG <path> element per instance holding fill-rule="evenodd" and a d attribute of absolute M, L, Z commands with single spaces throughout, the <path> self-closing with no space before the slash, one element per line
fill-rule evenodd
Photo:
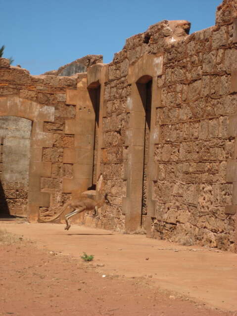
<path fill-rule="evenodd" d="M 101 266 L 24 240 L 0 244 L 0 315 L 236 316 L 161 290 L 149 277 L 102 277 Z"/>

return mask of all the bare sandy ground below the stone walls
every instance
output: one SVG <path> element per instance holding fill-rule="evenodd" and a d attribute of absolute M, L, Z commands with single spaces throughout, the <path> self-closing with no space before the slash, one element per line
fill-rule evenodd
<path fill-rule="evenodd" d="M 236 254 L 76 225 L 0 228 L 36 241 L 0 247 L 0 315 L 237 316 Z"/>

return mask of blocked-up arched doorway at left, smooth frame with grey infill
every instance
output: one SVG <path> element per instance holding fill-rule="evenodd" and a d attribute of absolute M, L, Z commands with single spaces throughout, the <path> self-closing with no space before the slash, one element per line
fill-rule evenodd
<path fill-rule="evenodd" d="M 29 221 L 37 222 L 39 208 L 50 203 L 50 194 L 41 192 L 40 181 L 51 177 L 51 163 L 42 161 L 42 150 L 53 144 L 53 135 L 44 132 L 44 122 L 54 121 L 54 107 L 9 95 L 0 98 L 0 119 L 2 208 L 7 214 L 22 212 Z"/>

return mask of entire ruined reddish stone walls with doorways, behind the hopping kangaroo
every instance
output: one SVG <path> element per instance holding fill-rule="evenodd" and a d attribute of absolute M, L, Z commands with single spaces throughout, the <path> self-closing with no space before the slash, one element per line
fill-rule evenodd
<path fill-rule="evenodd" d="M 43 222 L 102 174 L 111 204 L 74 223 L 237 252 L 237 0 L 189 30 L 40 76 L 0 58 L 0 215 Z"/>

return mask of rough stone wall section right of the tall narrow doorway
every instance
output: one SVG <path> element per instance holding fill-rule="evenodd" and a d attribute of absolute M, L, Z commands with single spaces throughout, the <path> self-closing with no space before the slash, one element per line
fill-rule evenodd
<path fill-rule="evenodd" d="M 234 220 L 226 214 L 233 192 L 226 168 L 235 144 L 228 125 L 237 111 L 237 95 L 231 93 L 232 38 L 232 23 L 212 27 L 164 55 L 156 111 L 154 236 L 234 249 Z"/>

